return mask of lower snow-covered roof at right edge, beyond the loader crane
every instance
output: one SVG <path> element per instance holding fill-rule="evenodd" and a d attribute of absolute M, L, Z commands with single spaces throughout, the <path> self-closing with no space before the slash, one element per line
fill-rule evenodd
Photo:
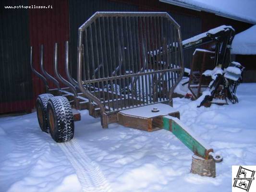
<path fill-rule="evenodd" d="M 256 55 L 256 25 L 235 35 L 231 54 Z"/>

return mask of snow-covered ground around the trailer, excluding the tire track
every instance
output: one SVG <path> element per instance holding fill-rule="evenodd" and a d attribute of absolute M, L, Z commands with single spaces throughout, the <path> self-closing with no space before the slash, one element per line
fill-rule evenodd
<path fill-rule="evenodd" d="M 237 96 L 238 104 L 211 108 L 196 108 L 196 101 L 185 98 L 173 102 L 183 123 L 223 156 L 216 178 L 189 173 L 192 152 L 165 130 L 144 132 L 118 124 L 104 130 L 100 119 L 83 111 L 74 141 L 82 148 L 81 158 L 99 168 L 113 192 L 231 192 L 232 165 L 256 165 L 256 84 L 239 85 Z M 61 149 L 40 131 L 36 113 L 0 118 L 0 191 L 81 191 Z M 95 179 L 91 172 L 88 182 Z"/>

